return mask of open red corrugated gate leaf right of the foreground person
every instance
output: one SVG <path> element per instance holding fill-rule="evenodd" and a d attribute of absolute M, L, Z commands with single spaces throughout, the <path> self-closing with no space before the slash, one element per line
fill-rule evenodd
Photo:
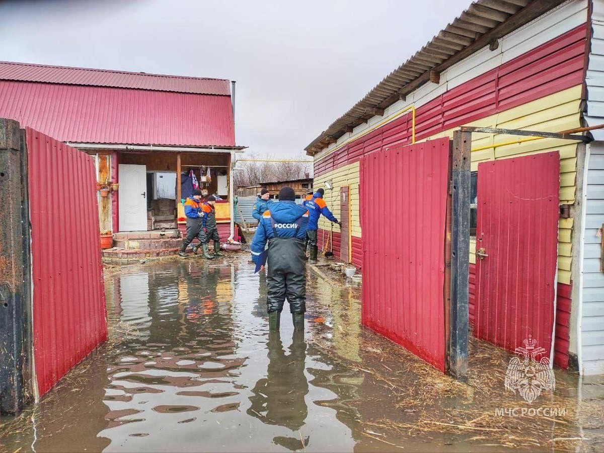
<path fill-rule="evenodd" d="M 445 371 L 448 138 L 361 159 L 362 324 Z"/>

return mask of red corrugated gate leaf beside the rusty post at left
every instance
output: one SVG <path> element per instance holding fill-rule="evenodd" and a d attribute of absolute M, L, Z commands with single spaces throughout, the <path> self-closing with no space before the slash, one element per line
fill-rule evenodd
<path fill-rule="evenodd" d="M 27 128 L 40 395 L 107 338 L 94 157 Z M 77 209 L 76 209 L 77 206 Z"/>

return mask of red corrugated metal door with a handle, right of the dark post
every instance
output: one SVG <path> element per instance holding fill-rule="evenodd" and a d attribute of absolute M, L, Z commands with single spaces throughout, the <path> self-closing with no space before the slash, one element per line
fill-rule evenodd
<path fill-rule="evenodd" d="M 549 152 L 478 164 L 474 334 L 508 350 L 532 336 L 551 349 L 560 156 Z"/>

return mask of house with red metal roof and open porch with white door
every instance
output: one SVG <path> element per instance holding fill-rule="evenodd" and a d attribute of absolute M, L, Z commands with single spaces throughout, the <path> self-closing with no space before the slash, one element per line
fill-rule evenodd
<path fill-rule="evenodd" d="M 97 158 L 100 230 L 184 228 L 181 199 L 207 189 L 233 235 L 234 83 L 0 62 L 0 117 Z"/>

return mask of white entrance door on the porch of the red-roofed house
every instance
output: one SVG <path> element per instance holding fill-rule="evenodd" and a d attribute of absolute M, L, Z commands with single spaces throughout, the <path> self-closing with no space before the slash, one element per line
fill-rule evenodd
<path fill-rule="evenodd" d="M 120 164 L 120 231 L 147 231 L 147 166 Z"/>

